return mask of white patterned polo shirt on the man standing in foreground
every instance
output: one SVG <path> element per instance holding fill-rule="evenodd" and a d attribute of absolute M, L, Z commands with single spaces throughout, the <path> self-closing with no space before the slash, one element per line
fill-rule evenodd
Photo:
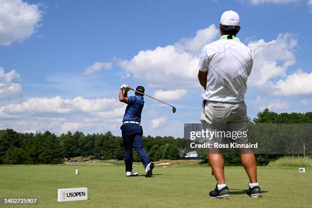
<path fill-rule="evenodd" d="M 247 78 L 252 68 L 253 55 L 239 38 L 227 35 L 203 47 L 199 70 L 207 71 L 205 100 L 242 102 L 247 90 Z"/>

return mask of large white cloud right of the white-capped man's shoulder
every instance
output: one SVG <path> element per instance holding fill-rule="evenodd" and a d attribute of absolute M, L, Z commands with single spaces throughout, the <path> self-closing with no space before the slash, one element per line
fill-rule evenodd
<path fill-rule="evenodd" d="M 296 62 L 297 39 L 292 34 L 279 34 L 275 40 L 263 39 L 248 44 L 254 54 L 253 67 L 248 85 L 261 89 L 260 93 L 274 96 L 312 94 L 312 73 L 287 70 Z"/>

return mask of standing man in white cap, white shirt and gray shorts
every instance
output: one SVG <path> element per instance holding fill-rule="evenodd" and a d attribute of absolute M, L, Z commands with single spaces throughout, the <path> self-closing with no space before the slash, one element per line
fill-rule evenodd
<path fill-rule="evenodd" d="M 240 31 L 240 17 L 235 11 L 225 11 L 220 20 L 221 38 L 207 44 L 201 51 L 198 80 L 204 88 L 201 123 L 204 129 L 219 131 L 225 127 L 231 132 L 247 131 L 247 114 L 244 102 L 247 78 L 252 68 L 251 50 L 236 37 Z M 222 128 L 220 128 L 222 126 Z M 221 138 L 222 139 L 222 138 Z M 220 138 L 210 138 L 209 143 L 220 143 Z M 247 137 L 232 140 L 247 144 Z M 240 149 L 242 164 L 249 177 L 246 196 L 261 197 L 257 181 L 257 167 L 252 151 Z M 230 198 L 225 184 L 224 160 L 218 148 L 210 148 L 209 162 L 217 180 L 211 198 Z"/>

